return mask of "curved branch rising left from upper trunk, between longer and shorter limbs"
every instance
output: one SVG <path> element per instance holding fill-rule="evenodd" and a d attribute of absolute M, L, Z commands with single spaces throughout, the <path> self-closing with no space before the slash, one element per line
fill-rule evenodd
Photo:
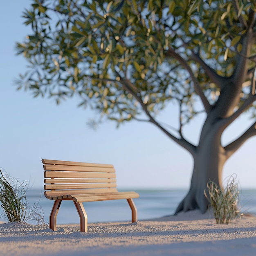
<path fill-rule="evenodd" d="M 189 66 L 189 64 L 184 60 L 184 58 L 182 58 L 180 56 L 180 54 L 177 54 L 173 49 L 168 49 L 166 54 L 174 57 L 189 72 L 189 74 L 191 76 L 191 79 L 194 83 L 195 92 L 199 95 L 199 97 L 200 97 L 200 99 L 203 103 L 205 111 L 207 113 L 209 113 L 210 110 L 211 110 L 211 105 L 210 105 L 209 101 L 207 100 L 207 98 L 205 97 L 205 95 L 204 95 L 204 93 L 203 93 L 203 91 L 202 91 L 202 89 L 201 89 L 201 87 L 198 83 L 198 80 L 196 79 L 196 77 L 195 77 L 193 71 L 191 70 L 191 67 Z"/>

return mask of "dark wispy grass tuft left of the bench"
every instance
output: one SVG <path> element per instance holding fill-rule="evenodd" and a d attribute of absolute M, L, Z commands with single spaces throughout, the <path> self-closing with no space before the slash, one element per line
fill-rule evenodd
<path fill-rule="evenodd" d="M 27 201 L 27 182 L 20 183 L 0 170 L 0 208 L 8 222 L 35 220 L 43 223 L 42 209 L 38 203 L 32 208 Z"/>

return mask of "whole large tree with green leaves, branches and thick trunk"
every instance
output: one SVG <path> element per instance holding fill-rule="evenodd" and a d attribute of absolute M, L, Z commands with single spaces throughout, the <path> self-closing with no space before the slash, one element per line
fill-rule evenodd
<path fill-rule="evenodd" d="M 176 212 L 207 210 L 209 180 L 222 185 L 222 167 L 256 135 L 255 0 L 34 0 L 24 12 L 32 34 L 17 43 L 30 67 L 19 88 L 58 103 L 74 94 L 121 124 L 146 121 L 191 153 L 189 192 Z M 176 131 L 157 121 L 179 106 Z M 246 110 L 254 123 L 222 145 L 223 131 Z M 204 111 L 198 145 L 183 127 Z"/>

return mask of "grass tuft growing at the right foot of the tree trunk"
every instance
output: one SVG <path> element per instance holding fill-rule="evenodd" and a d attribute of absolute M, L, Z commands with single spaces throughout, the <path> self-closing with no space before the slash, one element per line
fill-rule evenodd
<path fill-rule="evenodd" d="M 225 189 L 222 189 L 213 181 L 207 183 L 209 196 L 206 191 L 204 191 L 204 194 L 211 204 L 217 224 L 228 224 L 230 220 L 239 216 L 239 189 L 238 182 L 236 182 L 235 178 L 234 175 L 228 178 Z"/>

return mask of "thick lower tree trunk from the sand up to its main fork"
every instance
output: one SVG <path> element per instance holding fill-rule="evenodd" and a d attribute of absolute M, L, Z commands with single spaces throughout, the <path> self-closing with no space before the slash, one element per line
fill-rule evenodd
<path fill-rule="evenodd" d="M 222 129 L 218 121 L 211 122 L 209 118 L 202 128 L 199 144 L 193 154 L 194 168 L 189 192 L 179 204 L 176 213 L 200 209 L 207 211 L 209 201 L 204 195 L 207 183 L 211 180 L 222 186 L 222 168 L 227 160 L 225 149 L 222 147 L 220 137 Z"/>

